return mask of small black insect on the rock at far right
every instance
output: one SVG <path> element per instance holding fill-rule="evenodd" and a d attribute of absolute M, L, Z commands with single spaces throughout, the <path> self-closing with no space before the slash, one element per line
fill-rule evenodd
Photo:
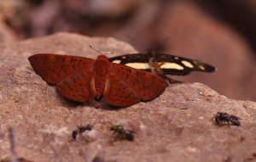
<path fill-rule="evenodd" d="M 215 121 L 218 126 L 220 126 L 223 122 L 228 122 L 230 125 L 230 122 L 235 126 L 240 126 L 241 118 L 235 116 L 235 115 L 229 115 L 227 113 L 221 113 L 218 112 L 217 115 L 215 115 Z"/>

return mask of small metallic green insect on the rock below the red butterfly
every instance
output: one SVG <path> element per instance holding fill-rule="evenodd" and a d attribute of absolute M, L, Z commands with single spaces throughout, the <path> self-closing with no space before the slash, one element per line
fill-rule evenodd
<path fill-rule="evenodd" d="M 119 133 L 119 137 L 123 138 L 125 137 L 129 141 L 133 141 L 133 126 L 112 126 L 110 128 L 110 131 L 115 131 Z"/>

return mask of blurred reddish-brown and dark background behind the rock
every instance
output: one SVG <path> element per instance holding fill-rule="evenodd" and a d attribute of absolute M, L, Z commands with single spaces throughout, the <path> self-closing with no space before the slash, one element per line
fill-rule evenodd
<path fill-rule="evenodd" d="M 0 42 L 67 31 L 113 36 L 145 52 L 172 36 L 154 51 L 201 59 L 218 68 L 210 74 L 193 72 L 173 79 L 203 82 L 228 98 L 253 101 L 255 29 L 253 0 L 0 1 Z"/>

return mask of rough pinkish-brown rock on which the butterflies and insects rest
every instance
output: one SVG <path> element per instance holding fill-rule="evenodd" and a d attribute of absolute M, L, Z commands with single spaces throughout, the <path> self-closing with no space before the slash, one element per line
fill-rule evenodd
<path fill-rule="evenodd" d="M 30 161 L 255 161 L 256 103 L 225 98 L 201 83 L 170 85 L 159 98 L 127 108 L 62 98 L 32 70 L 27 58 L 59 53 L 96 59 L 102 51 L 134 53 L 113 38 L 59 33 L 0 44 L 0 160 L 10 160 L 9 127 L 19 158 Z M 110 57 L 108 55 L 108 57 Z M 211 77 L 211 76 L 209 76 Z M 212 78 L 214 80 L 214 78 Z M 218 111 L 241 126 L 216 126 Z M 93 125 L 72 139 L 78 126 Z M 134 126 L 134 141 L 114 140 L 113 125 Z"/>

